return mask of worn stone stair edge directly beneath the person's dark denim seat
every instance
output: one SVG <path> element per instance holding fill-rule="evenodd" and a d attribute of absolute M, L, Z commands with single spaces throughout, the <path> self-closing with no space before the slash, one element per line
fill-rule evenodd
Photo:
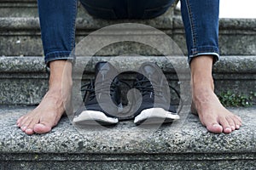
<path fill-rule="evenodd" d="M 167 24 L 165 23 L 163 26 L 158 25 L 163 20 L 169 20 Z M 256 19 L 220 19 L 219 20 L 219 28 L 222 30 L 247 30 L 250 32 L 255 32 L 256 29 Z M 91 23 L 92 22 L 92 23 Z M 183 23 L 180 16 L 173 17 L 173 25 L 172 19 L 165 16 L 157 17 L 152 20 L 100 20 L 93 19 L 88 15 L 83 18 L 77 18 L 77 28 L 78 30 L 86 30 L 86 29 L 99 29 L 102 26 L 110 26 L 118 23 L 141 23 L 146 25 L 152 25 L 156 28 L 160 29 L 183 29 Z M 5 29 L 9 29 L 11 31 L 19 31 L 23 30 L 39 30 L 39 20 L 38 17 L 0 17 L 0 30 L 4 31 Z"/>

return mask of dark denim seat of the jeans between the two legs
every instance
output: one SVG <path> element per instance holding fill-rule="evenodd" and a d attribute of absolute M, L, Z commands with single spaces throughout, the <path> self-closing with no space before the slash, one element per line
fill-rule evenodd
<path fill-rule="evenodd" d="M 80 0 L 89 14 L 102 19 L 150 19 L 166 12 L 174 0 Z"/>

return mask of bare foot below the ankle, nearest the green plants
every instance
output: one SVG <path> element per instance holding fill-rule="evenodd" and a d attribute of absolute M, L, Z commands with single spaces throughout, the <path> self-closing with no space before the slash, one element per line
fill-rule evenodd
<path fill-rule="evenodd" d="M 201 123 L 212 133 L 231 133 L 241 127 L 241 118 L 228 111 L 211 89 L 193 89 L 193 103 Z"/>

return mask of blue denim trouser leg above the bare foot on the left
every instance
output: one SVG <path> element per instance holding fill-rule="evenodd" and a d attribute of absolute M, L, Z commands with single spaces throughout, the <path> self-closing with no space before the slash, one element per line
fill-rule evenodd
<path fill-rule="evenodd" d="M 76 0 L 38 0 L 45 63 L 70 59 L 75 45 Z"/>

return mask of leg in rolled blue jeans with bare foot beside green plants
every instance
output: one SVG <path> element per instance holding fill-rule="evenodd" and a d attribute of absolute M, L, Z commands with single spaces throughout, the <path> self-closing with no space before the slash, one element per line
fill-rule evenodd
<path fill-rule="evenodd" d="M 182 14 L 195 110 L 208 131 L 231 133 L 241 126 L 241 118 L 221 105 L 212 79 L 212 64 L 218 60 L 218 4 L 218 0 L 182 0 Z"/>

